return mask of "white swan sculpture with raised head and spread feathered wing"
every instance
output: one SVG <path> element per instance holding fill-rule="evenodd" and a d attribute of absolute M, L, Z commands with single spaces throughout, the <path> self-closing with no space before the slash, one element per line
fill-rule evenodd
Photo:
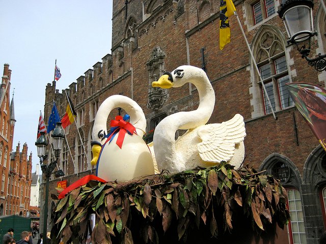
<path fill-rule="evenodd" d="M 196 110 L 171 114 L 156 126 L 153 143 L 158 169 L 174 173 L 198 165 L 210 167 L 221 161 L 240 166 L 246 136 L 243 117 L 236 114 L 221 124 L 205 125 L 214 109 L 215 94 L 202 69 L 180 66 L 172 73 L 164 73 L 152 86 L 180 87 L 187 82 L 197 87 L 200 103 Z M 175 140 L 179 129 L 188 131 Z"/>

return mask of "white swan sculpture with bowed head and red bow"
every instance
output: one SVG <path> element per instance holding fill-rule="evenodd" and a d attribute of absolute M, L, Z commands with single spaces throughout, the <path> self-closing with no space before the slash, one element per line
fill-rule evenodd
<path fill-rule="evenodd" d="M 121 148 L 117 145 L 118 134 L 109 143 L 107 117 L 114 108 L 123 108 L 130 116 L 130 124 L 137 134 L 125 133 Z M 119 123 L 117 123 L 119 124 Z M 125 125 L 121 121 L 121 125 Z M 142 108 L 132 99 L 113 95 L 103 101 L 95 116 L 92 132 L 92 165 L 97 165 L 97 176 L 106 181 L 125 181 L 154 174 L 153 159 L 142 139 L 146 131 L 146 118 Z"/>

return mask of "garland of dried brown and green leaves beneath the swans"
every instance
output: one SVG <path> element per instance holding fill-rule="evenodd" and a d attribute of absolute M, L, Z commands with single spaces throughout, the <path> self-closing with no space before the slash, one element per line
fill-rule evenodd
<path fill-rule="evenodd" d="M 270 223 L 287 224 L 284 194 L 273 177 L 226 163 L 129 182 L 90 181 L 58 202 L 51 232 L 65 242 L 91 233 L 94 243 L 158 243 L 167 235 L 181 243 L 198 228 L 213 237 L 232 233 L 240 212 L 259 233 Z"/>

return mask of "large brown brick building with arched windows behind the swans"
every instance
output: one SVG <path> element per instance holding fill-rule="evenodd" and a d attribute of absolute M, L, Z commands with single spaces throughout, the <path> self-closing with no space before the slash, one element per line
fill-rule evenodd
<path fill-rule="evenodd" d="M 162 118 L 194 110 L 199 104 L 193 85 L 165 90 L 151 87 L 151 82 L 180 65 L 201 67 L 216 96 L 215 110 L 208 123 L 221 123 L 240 113 L 247 130 L 244 164 L 267 170 L 288 191 L 292 220 L 289 236 L 286 229 L 282 232 L 285 240 L 317 243 L 326 225 L 326 154 L 293 106 L 284 84 L 304 81 L 324 87 L 326 72 L 318 73 L 309 67 L 296 48 L 286 43 L 284 25 L 276 12 L 279 0 L 234 1 L 234 4 L 277 119 L 263 96 L 253 60 L 234 16 L 230 17 L 231 43 L 223 51 L 219 49 L 220 1 L 115 0 L 112 54 L 105 55 L 102 62 L 96 63 L 62 93 L 56 89 L 55 81 L 46 86 L 45 121 L 53 99 L 60 115 L 64 115 L 67 92 L 77 111 L 76 124 L 86 149 L 84 153 L 77 127 L 70 125 L 66 131 L 68 145 L 60 159 L 60 168 L 66 175 L 63 178 L 69 185 L 91 173 L 92 126 L 104 99 L 114 94 L 132 98 L 146 114 L 148 132 Z M 320 35 L 312 39 L 312 56 L 326 52 L 323 35 L 326 15 L 318 3 L 313 15 Z M 117 108 L 111 116 L 119 113 L 123 111 Z M 56 193 L 58 180 L 50 182 L 50 192 Z M 53 207 L 55 202 L 49 204 Z M 279 240 L 279 243 L 285 242 Z"/>

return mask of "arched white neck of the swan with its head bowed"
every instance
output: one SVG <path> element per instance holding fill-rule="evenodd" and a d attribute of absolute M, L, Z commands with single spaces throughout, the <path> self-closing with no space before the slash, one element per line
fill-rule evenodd
<path fill-rule="evenodd" d="M 98 138 L 98 132 L 100 130 L 105 131 L 107 134 L 107 117 L 110 112 L 115 108 L 122 108 L 130 116 L 130 123 L 136 128 L 136 132 L 139 136 L 143 136 L 146 131 L 146 118 L 142 108 L 132 99 L 122 96 L 113 95 L 108 97 L 100 105 L 93 127 L 93 140 Z"/>

